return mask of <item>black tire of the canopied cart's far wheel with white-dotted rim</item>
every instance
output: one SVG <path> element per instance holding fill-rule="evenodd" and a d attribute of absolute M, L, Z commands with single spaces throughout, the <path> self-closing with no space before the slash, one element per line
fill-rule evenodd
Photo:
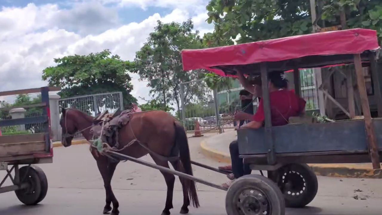
<path fill-rule="evenodd" d="M 301 177 L 304 180 L 304 189 L 298 195 L 297 193 L 292 195 L 293 193 L 288 193 L 287 190 L 283 191 L 282 177 L 287 171 L 290 172 L 290 174 L 295 174 L 297 177 Z M 277 173 L 277 176 L 280 177 L 278 178 L 278 186 L 283 192 L 286 207 L 302 208 L 311 203 L 314 197 L 316 197 L 318 191 L 318 180 L 316 174 L 314 174 L 313 170 L 308 165 L 302 163 L 288 164 L 278 169 Z"/>

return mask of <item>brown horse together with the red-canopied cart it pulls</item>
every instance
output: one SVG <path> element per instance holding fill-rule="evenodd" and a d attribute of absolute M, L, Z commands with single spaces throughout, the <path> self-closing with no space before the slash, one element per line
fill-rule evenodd
<path fill-rule="evenodd" d="M 375 100 L 382 102 L 380 78 L 375 69 L 376 52 L 379 49 L 376 31 L 351 29 L 235 46 L 183 50 L 184 70 L 202 68 L 219 75 L 234 76 L 236 69 L 239 69 L 246 75 L 261 74 L 265 127 L 258 130 L 238 130 L 238 142 L 244 162 L 249 163 L 251 169 L 264 170 L 268 174 L 267 177 L 247 175 L 233 182 L 225 202 L 228 215 L 284 215 L 285 207 L 303 207 L 309 204 L 317 193 L 318 182 L 316 175 L 305 163 L 363 163 L 371 158 L 373 167 L 380 168 L 382 137 L 376 135 L 376 131 L 380 130 L 379 124 L 382 120 L 371 118 L 362 68 L 363 65 L 371 66 L 377 97 Z M 350 111 L 342 108 L 351 116 L 349 121 L 272 127 L 272 105 L 267 85 L 269 72 L 294 71 L 295 92 L 300 94 L 300 68 L 345 64 L 355 65 L 364 119 L 356 120 L 354 117 L 351 108 L 351 104 L 354 105 L 352 94 L 349 96 Z M 336 102 L 329 94 L 326 96 L 333 103 Z M 382 110 L 382 103 L 379 106 L 379 110 Z M 378 114 L 381 115 L 382 111 Z M 65 147 L 71 145 L 71 140 L 78 132 L 89 141 L 99 136 L 92 143 L 91 152 L 104 179 L 105 213 L 111 211 L 112 215 L 119 214 L 119 203 L 110 182 L 117 163 L 121 160 L 133 161 L 161 171 L 167 184 L 163 215 L 170 214 L 172 208 L 175 178 L 171 174 L 188 179 L 181 181 L 184 195 L 181 213 L 188 213 L 190 199 L 194 206 L 199 205 L 196 188 L 189 180 L 227 190 L 192 175 L 191 163 L 224 172 L 190 160 L 185 130 L 164 111 L 127 112 L 125 115 L 115 113 L 112 117 L 101 118 L 97 117 L 94 121 L 93 117 L 81 111 L 63 109 L 60 124 Z M 151 155 L 157 165 L 139 159 L 147 154 Z M 175 170 L 168 167 L 168 162 Z"/>

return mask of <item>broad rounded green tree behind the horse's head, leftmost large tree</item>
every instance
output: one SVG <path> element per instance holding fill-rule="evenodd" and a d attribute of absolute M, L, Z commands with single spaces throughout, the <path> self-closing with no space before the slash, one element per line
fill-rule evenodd
<path fill-rule="evenodd" d="M 128 72 L 133 63 L 121 60 L 118 55 L 111 55 L 108 49 L 95 54 L 66 56 L 54 59 L 54 62 L 57 65 L 45 68 L 42 79 L 48 80 L 50 86 L 61 86 L 62 98 L 121 91 L 124 106 L 137 101 L 130 94 L 133 85 Z M 94 108 L 92 104 L 84 105 Z"/>

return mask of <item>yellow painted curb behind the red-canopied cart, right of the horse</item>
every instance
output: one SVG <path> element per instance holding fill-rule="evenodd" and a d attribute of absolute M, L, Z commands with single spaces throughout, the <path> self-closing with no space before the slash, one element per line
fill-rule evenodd
<path fill-rule="evenodd" d="M 206 141 L 200 143 L 203 155 L 222 163 L 231 163 L 231 157 L 227 153 L 215 150 L 207 146 Z M 367 168 L 365 165 L 351 164 L 308 164 L 319 176 L 341 177 L 341 178 L 379 178 L 382 179 L 382 169 Z"/>

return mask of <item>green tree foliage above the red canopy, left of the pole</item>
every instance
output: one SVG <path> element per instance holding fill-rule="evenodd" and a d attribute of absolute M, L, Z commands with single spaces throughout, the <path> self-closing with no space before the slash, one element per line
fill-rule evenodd
<path fill-rule="evenodd" d="M 214 33 L 204 35 L 209 46 L 312 32 L 309 0 L 211 0 L 206 8 L 206 21 L 215 26 Z"/>

